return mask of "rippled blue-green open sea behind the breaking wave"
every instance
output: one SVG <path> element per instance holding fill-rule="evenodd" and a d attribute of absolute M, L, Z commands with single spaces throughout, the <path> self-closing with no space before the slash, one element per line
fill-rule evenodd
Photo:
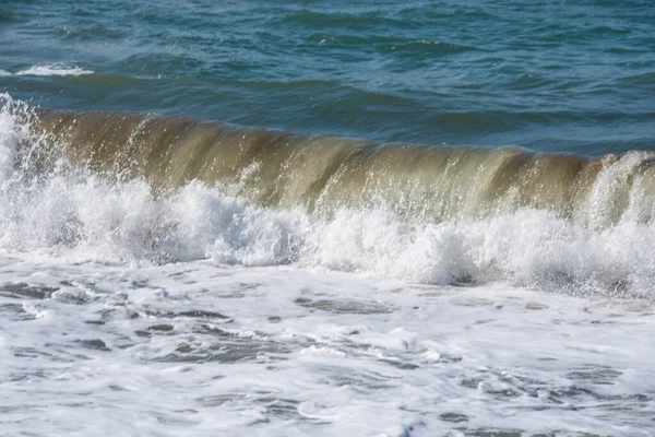
<path fill-rule="evenodd" d="M 655 149 L 650 0 L 5 0 L 0 38 L 0 92 L 57 109 L 381 142 Z M 44 66 L 88 74 L 29 74 Z"/>

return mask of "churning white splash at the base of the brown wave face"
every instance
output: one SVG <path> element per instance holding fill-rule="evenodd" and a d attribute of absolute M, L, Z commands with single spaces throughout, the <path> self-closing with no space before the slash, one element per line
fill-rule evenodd
<path fill-rule="evenodd" d="M 75 262 L 210 258 L 432 284 L 503 282 L 654 296 L 655 233 L 629 214 L 602 229 L 534 209 L 484 220 L 407 223 L 384 205 L 341 208 L 329 215 L 259 208 L 228 196 L 229 187 L 199 181 L 157 196 L 143 180 L 98 176 L 61 158 L 44 164 L 52 161 L 39 154 L 47 138 L 35 138 L 28 117 L 11 105 L 16 103 L 8 103 L 0 115 L 0 245 L 9 250 Z"/>

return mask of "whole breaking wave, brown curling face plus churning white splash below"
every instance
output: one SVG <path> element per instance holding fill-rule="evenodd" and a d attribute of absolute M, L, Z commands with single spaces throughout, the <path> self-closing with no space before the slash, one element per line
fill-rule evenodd
<path fill-rule="evenodd" d="M 383 145 L 2 98 L 7 250 L 655 296 L 655 153 Z"/>

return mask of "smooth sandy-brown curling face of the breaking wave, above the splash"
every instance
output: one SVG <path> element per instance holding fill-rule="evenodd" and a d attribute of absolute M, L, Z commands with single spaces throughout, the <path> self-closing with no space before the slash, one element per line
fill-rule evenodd
<path fill-rule="evenodd" d="M 654 152 L 586 160 L 517 149 L 381 145 L 122 113 L 49 113 L 39 121 L 71 160 L 94 170 L 159 188 L 191 180 L 228 185 L 235 196 L 265 206 L 383 204 L 420 222 L 531 208 L 594 229 L 650 224 L 655 211 Z"/>

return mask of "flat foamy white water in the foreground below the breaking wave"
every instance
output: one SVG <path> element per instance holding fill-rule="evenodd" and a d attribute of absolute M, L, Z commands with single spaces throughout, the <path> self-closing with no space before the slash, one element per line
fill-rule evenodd
<path fill-rule="evenodd" d="M 653 304 L 0 255 L 0 434 L 650 436 Z"/>

